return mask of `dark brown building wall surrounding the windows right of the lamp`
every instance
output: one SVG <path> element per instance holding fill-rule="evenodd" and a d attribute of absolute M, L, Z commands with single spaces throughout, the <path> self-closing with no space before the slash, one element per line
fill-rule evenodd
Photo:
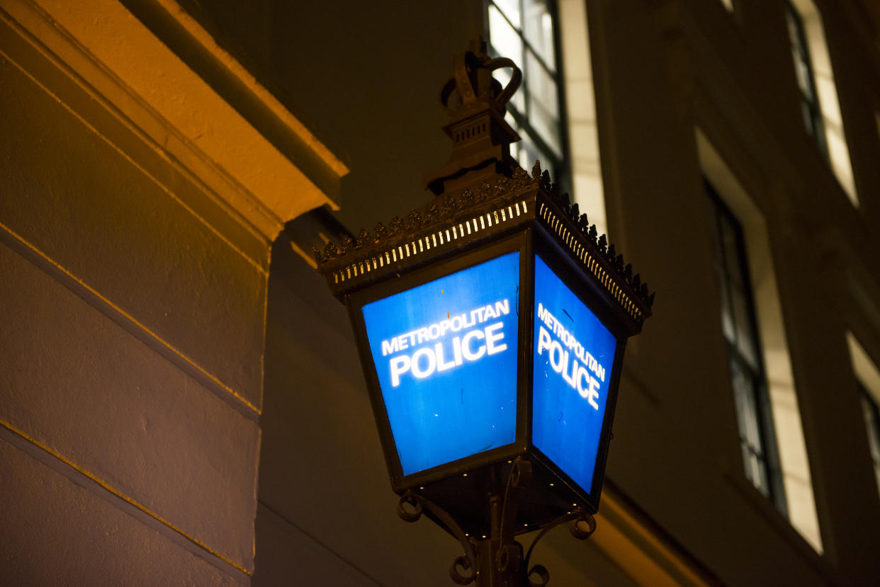
<path fill-rule="evenodd" d="M 610 231 L 648 264 L 642 275 L 658 292 L 654 318 L 627 348 L 608 474 L 731 584 L 869 584 L 880 573 L 868 546 L 880 539 L 880 499 L 845 336 L 852 323 L 877 332 L 877 298 L 862 292 L 876 292 L 880 275 L 870 164 L 880 153 L 862 104 L 880 95 L 880 78 L 876 52 L 855 33 L 858 13 L 817 4 L 858 209 L 803 128 L 783 3 L 588 3 L 603 55 L 597 77 L 608 81 L 597 101 Z M 795 460 L 806 459 L 787 480 L 788 517 L 745 480 L 738 454 L 701 176 L 717 180 L 698 136 L 757 214 L 729 202 L 746 238 L 749 224 L 766 232 L 766 256 L 746 243 L 756 297 L 762 267 L 778 290 L 781 331 L 762 332 L 763 342 L 785 345 L 796 391 L 788 415 L 774 406 L 774 416 L 780 443 L 803 442 Z M 723 181 L 715 187 L 735 197 Z M 810 502 L 815 522 L 799 519 Z"/>

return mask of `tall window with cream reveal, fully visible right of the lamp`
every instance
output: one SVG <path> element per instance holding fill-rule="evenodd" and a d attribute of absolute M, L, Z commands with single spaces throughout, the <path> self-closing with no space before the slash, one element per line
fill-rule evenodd
<path fill-rule="evenodd" d="M 810 461 L 764 216 L 715 145 L 700 128 L 694 131 L 700 167 L 711 184 L 705 190 L 712 190 L 707 199 L 720 326 L 730 349 L 743 470 L 747 482 L 772 499 L 821 553 Z"/>

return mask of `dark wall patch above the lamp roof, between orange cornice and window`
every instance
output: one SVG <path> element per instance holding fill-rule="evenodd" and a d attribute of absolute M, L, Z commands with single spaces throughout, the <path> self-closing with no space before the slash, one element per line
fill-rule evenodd
<path fill-rule="evenodd" d="M 427 201 L 422 176 L 449 158 L 440 90 L 482 31 L 479 1 L 180 5 L 350 167 L 350 230 Z"/>

